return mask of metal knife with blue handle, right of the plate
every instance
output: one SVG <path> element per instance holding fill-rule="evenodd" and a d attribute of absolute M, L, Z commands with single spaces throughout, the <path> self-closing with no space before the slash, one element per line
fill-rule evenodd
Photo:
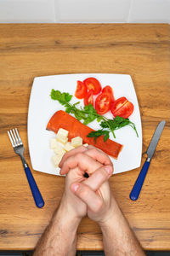
<path fill-rule="evenodd" d="M 146 173 L 148 172 L 149 166 L 150 166 L 150 160 L 152 159 L 152 156 L 154 155 L 154 152 L 156 150 L 157 143 L 161 137 L 161 132 L 163 131 L 163 128 L 165 126 L 166 121 L 161 121 L 159 125 L 156 127 L 156 131 L 150 141 L 150 146 L 148 147 L 148 150 L 146 154 L 148 155 L 148 158 L 144 162 L 144 166 L 142 167 L 142 170 L 139 173 L 139 177 L 137 178 L 136 182 L 134 183 L 133 189 L 130 193 L 130 199 L 135 201 L 139 198 L 140 190 L 142 189 L 142 185 L 144 183 L 144 178 L 146 176 Z"/>

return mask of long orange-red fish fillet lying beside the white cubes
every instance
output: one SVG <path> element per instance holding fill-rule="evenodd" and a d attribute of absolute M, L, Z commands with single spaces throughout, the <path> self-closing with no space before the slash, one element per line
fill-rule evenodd
<path fill-rule="evenodd" d="M 55 133 L 58 132 L 59 128 L 69 131 L 69 140 L 77 136 L 82 137 L 83 143 L 94 145 L 94 147 L 103 150 L 106 154 L 110 154 L 116 159 L 122 150 L 122 144 L 113 142 L 110 139 L 104 142 L 104 136 L 98 137 L 95 143 L 93 137 L 87 137 L 88 133 L 94 130 L 87 125 L 83 125 L 69 113 L 62 110 L 55 112 L 47 125 L 47 130 L 54 131 Z"/>

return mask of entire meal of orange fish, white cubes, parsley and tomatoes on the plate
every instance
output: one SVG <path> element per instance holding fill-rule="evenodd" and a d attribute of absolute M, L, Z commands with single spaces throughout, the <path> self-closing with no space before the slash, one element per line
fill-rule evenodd
<path fill-rule="evenodd" d="M 80 102 L 71 104 L 72 96 L 69 93 L 51 90 L 51 98 L 65 107 L 65 112 L 59 110 L 54 113 L 47 125 L 47 130 L 57 133 L 56 140 L 51 142 L 51 148 L 57 154 L 52 158 L 55 166 L 57 166 L 61 154 L 64 155 L 66 151 L 76 148 L 82 143 L 92 144 L 117 159 L 122 150 L 122 144 L 111 141 L 109 139 L 110 132 L 113 137 L 116 137 L 114 131 L 126 125 L 130 125 L 138 137 L 135 125 L 127 119 L 133 113 L 133 103 L 128 102 L 126 97 L 115 100 L 110 85 L 106 85 L 101 93 L 100 91 L 99 80 L 94 78 L 85 79 L 83 82 L 78 80 L 75 96 L 78 99 L 83 99 L 84 108 L 77 108 L 77 104 Z M 95 99 L 95 108 L 94 95 L 98 95 Z M 110 110 L 114 119 L 107 119 L 104 116 Z M 76 119 L 69 113 L 73 113 Z M 95 119 L 100 122 L 101 129 L 98 131 L 87 126 Z M 83 124 L 80 120 L 83 120 Z"/>

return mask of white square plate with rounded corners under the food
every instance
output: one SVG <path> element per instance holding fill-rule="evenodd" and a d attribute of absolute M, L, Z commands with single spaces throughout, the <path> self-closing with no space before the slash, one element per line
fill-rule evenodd
<path fill-rule="evenodd" d="M 116 99 L 125 96 L 134 106 L 133 113 L 129 119 L 136 125 L 139 137 L 136 136 L 135 131 L 130 126 L 125 126 L 115 131 L 116 139 L 114 141 L 123 144 L 123 148 L 118 160 L 111 158 L 114 165 L 114 173 L 126 172 L 140 166 L 142 128 L 139 104 L 131 77 L 124 74 L 79 73 L 38 77 L 34 79 L 28 111 L 28 143 L 31 165 L 34 170 L 59 175 L 59 168 L 55 169 L 51 163 L 51 157 L 54 153 L 49 148 L 50 139 L 56 137 L 56 135 L 53 131 L 47 131 L 46 126 L 56 111 L 60 109 L 65 110 L 65 108 L 59 102 L 51 99 L 51 90 L 69 92 L 73 95 L 71 102 L 75 103 L 79 101 L 74 96 L 77 88 L 77 80 L 82 81 L 88 77 L 99 79 L 102 88 L 105 85 L 110 85 L 113 88 Z M 83 102 L 82 100 L 80 101 L 81 103 Z M 111 113 L 106 113 L 105 116 L 108 118 L 113 117 Z M 94 130 L 99 129 L 99 123 L 97 121 L 88 125 Z"/>

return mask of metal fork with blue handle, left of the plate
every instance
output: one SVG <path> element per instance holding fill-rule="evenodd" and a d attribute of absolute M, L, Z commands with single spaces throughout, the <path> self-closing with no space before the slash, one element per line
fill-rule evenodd
<path fill-rule="evenodd" d="M 44 201 L 43 201 L 42 195 L 37 187 L 37 183 L 35 182 L 35 179 L 31 174 L 31 170 L 26 163 L 26 159 L 24 157 L 24 145 L 20 139 L 20 135 L 19 135 L 19 132 L 17 131 L 17 128 L 8 131 L 8 137 L 10 139 L 10 142 L 12 143 L 14 152 L 16 154 L 20 155 L 20 159 L 22 160 L 22 164 L 23 164 L 25 172 L 26 172 L 26 177 L 27 177 L 28 183 L 30 185 L 31 193 L 33 195 L 34 201 L 35 201 L 37 207 L 42 208 L 44 206 Z"/>

